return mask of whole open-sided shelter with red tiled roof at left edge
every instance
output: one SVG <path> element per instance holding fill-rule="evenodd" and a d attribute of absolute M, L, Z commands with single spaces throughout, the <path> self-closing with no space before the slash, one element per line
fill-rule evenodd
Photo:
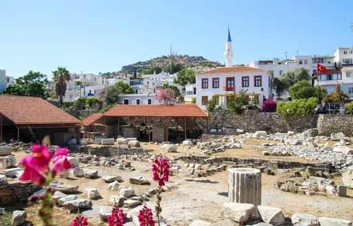
<path fill-rule="evenodd" d="M 0 95 L 0 143 L 3 142 L 3 122 L 20 130 L 37 128 L 77 127 L 81 121 L 39 97 Z M 78 135 L 79 137 L 79 135 Z"/>

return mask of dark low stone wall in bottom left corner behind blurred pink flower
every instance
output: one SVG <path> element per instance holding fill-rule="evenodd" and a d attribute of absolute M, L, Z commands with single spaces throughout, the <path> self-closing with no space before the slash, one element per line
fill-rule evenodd
<path fill-rule="evenodd" d="M 41 187 L 30 182 L 9 181 L 6 185 L 0 185 L 0 206 L 27 201 L 39 189 Z"/>

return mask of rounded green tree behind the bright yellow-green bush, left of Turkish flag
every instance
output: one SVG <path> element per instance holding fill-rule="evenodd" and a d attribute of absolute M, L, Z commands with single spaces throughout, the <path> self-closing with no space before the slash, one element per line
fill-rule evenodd
<path fill-rule="evenodd" d="M 303 80 L 292 85 L 288 92 L 292 99 L 308 99 L 310 97 L 317 97 L 319 90 L 319 101 L 322 101 L 323 94 L 326 93 L 325 88 L 322 85 L 319 85 L 319 89 L 317 86 L 312 86 L 309 81 Z"/>

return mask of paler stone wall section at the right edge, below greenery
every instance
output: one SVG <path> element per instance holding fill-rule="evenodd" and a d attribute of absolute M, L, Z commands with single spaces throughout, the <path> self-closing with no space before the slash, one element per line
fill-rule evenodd
<path fill-rule="evenodd" d="M 353 115 L 320 114 L 317 130 L 319 135 L 330 136 L 333 132 L 343 132 L 345 136 L 353 136 Z"/>

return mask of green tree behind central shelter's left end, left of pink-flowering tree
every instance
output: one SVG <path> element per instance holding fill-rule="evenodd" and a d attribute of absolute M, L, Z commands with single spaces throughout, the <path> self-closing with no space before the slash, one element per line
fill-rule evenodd
<path fill-rule="evenodd" d="M 134 94 L 134 90 L 128 83 L 118 81 L 114 85 L 99 91 L 98 97 L 110 105 L 119 102 L 121 94 Z"/>

